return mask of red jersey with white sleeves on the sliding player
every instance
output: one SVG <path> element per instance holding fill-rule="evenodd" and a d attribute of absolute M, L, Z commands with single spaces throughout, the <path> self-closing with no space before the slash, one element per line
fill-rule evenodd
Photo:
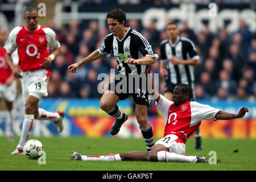
<path fill-rule="evenodd" d="M 220 111 L 209 105 L 199 104 L 196 101 L 188 101 L 179 106 L 169 101 L 160 94 L 159 101 L 154 105 L 164 117 L 164 137 L 174 134 L 179 137 L 183 143 L 200 126 L 201 120 L 216 120 L 216 114 Z"/>

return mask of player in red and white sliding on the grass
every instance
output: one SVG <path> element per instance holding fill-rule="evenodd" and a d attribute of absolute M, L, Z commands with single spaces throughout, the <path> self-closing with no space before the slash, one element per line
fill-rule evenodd
<path fill-rule="evenodd" d="M 156 93 L 156 92 L 155 92 Z M 158 94 L 158 93 L 156 93 Z M 86 156 L 72 152 L 73 160 L 141 160 L 155 162 L 190 162 L 207 163 L 204 156 L 187 156 L 185 142 L 200 126 L 201 120 L 242 118 L 249 110 L 242 107 L 238 114 L 224 111 L 190 101 L 193 97 L 191 86 L 179 84 L 174 88 L 173 102 L 159 94 L 154 104 L 162 113 L 165 126 L 164 137 L 159 139 L 150 152 L 133 151 L 125 154 Z"/>

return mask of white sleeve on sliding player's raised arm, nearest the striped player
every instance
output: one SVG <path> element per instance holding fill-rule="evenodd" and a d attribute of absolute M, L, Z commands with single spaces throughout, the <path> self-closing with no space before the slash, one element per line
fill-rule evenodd
<path fill-rule="evenodd" d="M 155 100 L 154 105 L 160 111 L 160 113 L 163 115 L 164 119 L 167 120 L 169 108 L 172 104 L 174 104 L 174 102 L 168 100 L 162 94 L 159 94 L 159 96 L 160 96 L 159 101 L 157 102 Z"/>

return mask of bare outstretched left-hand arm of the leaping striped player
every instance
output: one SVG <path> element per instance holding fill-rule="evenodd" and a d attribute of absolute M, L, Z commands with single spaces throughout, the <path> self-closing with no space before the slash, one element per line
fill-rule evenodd
<path fill-rule="evenodd" d="M 71 64 L 68 67 L 69 72 L 76 73 L 76 68 L 80 68 L 82 65 L 100 59 L 104 54 L 101 54 L 98 49 L 90 53 L 89 56 L 85 57 L 84 59 L 78 61 L 77 63 Z"/>

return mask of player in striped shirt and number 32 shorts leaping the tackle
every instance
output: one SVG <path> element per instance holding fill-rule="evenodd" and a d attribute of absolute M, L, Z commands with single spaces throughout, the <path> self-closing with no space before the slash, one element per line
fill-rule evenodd
<path fill-rule="evenodd" d="M 135 88 L 135 84 L 133 84 L 134 88 L 129 88 L 128 83 L 129 75 L 145 73 L 146 66 L 154 64 L 155 59 L 158 59 L 158 55 L 154 53 L 148 41 L 138 31 L 126 27 L 126 14 L 122 10 L 109 11 L 106 18 L 112 33 L 106 36 L 100 48 L 78 63 L 70 65 L 68 69 L 70 72 L 75 73 L 76 68 L 80 68 L 84 64 L 97 60 L 105 54 L 110 55 L 113 52 L 118 62 L 118 73 L 114 81 L 109 84 L 109 88 L 105 91 L 100 101 L 101 109 L 116 119 L 110 134 L 116 135 L 122 124 L 128 119 L 128 116 L 118 109 L 117 102 L 133 96 L 136 104 L 135 115 L 146 142 L 147 150 L 150 151 L 154 146 L 152 127 L 147 119 L 150 96 L 147 88 L 143 90 L 142 82 L 140 82 L 139 88 Z M 120 79 L 121 75 L 126 77 L 127 89 L 125 92 L 118 93 L 117 85 L 123 79 Z M 129 92 L 130 89 L 133 89 L 132 92 Z"/>

